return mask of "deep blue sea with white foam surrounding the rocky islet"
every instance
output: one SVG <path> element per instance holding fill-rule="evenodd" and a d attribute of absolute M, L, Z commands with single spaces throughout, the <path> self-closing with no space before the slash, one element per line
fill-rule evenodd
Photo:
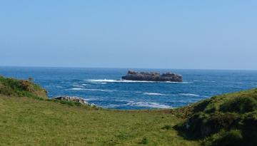
<path fill-rule="evenodd" d="M 74 95 L 104 108 L 176 108 L 213 95 L 257 88 L 257 71 L 136 69 L 174 72 L 183 83 L 121 80 L 128 68 L 0 67 L 0 75 L 34 78 L 49 97 Z"/>

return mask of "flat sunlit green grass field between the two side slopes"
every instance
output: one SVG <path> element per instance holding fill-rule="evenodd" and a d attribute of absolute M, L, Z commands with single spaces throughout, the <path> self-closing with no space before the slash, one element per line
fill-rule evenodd
<path fill-rule="evenodd" d="M 199 145 L 170 110 L 103 110 L 0 95 L 0 145 Z"/>

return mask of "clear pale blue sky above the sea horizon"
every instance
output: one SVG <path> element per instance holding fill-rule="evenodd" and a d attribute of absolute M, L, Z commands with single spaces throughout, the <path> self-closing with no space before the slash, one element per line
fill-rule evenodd
<path fill-rule="evenodd" d="M 0 1 L 0 66 L 257 70 L 257 1 Z"/>

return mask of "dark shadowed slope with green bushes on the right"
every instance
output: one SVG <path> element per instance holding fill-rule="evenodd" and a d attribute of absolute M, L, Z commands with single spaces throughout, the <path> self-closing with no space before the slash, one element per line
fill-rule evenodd
<path fill-rule="evenodd" d="M 186 107 L 176 125 L 182 135 L 205 145 L 257 145 L 257 89 L 214 96 Z"/>

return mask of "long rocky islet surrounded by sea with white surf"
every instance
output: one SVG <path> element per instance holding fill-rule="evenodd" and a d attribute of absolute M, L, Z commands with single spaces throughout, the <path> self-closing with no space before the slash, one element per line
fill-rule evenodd
<path fill-rule="evenodd" d="M 126 76 L 122 76 L 124 80 L 146 80 L 146 81 L 170 81 L 170 82 L 182 82 L 182 75 L 175 73 L 148 73 L 129 70 Z"/>

